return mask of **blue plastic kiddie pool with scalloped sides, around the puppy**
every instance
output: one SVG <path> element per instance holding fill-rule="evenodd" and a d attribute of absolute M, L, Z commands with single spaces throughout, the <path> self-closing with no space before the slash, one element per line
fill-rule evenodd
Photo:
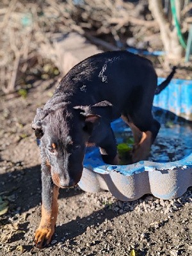
<path fill-rule="evenodd" d="M 160 78 L 159 83 L 161 81 Z M 191 120 L 192 82 L 173 79 L 160 95 L 155 96 L 154 106 Z M 120 119 L 111 123 L 111 127 L 114 132 L 126 129 Z M 192 186 L 192 154 L 169 163 L 140 161 L 115 166 L 102 161 L 98 148 L 88 148 L 79 181 L 84 191 L 110 191 L 122 201 L 136 200 L 148 193 L 162 199 L 178 198 L 189 186 Z"/>

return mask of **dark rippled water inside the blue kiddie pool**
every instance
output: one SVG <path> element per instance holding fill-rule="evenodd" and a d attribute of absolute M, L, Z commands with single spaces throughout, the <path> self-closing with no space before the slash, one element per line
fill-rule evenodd
<path fill-rule="evenodd" d="M 159 120 L 159 116 L 156 116 L 156 119 Z M 161 122 L 161 129 L 152 145 L 148 160 L 166 163 L 189 156 L 192 152 L 192 124 L 178 122 L 178 120 L 176 123 L 175 120 L 170 118 L 159 121 Z M 133 142 L 131 129 L 120 120 L 114 122 L 112 127 L 115 131 L 121 164 L 129 164 L 129 152 Z"/>

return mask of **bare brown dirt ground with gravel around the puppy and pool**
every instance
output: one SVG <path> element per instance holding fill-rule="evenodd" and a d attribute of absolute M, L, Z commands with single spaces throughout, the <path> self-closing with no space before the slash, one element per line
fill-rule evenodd
<path fill-rule="evenodd" d="M 0 216 L 0 255 L 192 255 L 191 188 L 179 200 L 145 195 L 134 202 L 120 202 L 109 192 L 63 189 L 51 245 L 33 248 L 41 180 L 31 120 L 51 96 L 50 84 L 36 81 L 25 99 L 1 97 L 0 196 L 8 212 Z"/>

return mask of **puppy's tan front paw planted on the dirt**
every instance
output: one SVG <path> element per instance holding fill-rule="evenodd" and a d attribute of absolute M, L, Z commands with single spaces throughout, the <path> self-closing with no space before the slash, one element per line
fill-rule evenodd
<path fill-rule="evenodd" d="M 39 227 L 35 232 L 35 237 L 33 239 L 33 245 L 38 248 L 44 248 L 45 246 L 48 246 L 49 243 L 51 242 L 51 237 L 53 234 L 54 234 L 54 228 Z"/>

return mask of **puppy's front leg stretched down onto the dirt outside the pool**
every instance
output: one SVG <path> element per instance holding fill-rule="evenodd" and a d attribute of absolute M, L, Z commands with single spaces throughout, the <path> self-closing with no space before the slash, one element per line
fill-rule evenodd
<path fill-rule="evenodd" d="M 38 248 L 47 246 L 54 234 L 54 227 L 58 216 L 59 188 L 53 184 L 51 166 L 42 163 L 42 218 L 35 232 L 34 244 Z"/>

